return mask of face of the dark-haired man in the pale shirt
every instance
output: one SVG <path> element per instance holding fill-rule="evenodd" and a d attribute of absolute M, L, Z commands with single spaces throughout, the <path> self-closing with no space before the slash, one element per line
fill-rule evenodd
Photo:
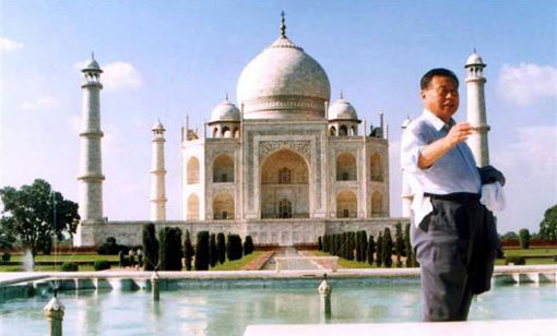
<path fill-rule="evenodd" d="M 434 76 L 422 91 L 422 99 L 425 108 L 448 122 L 459 108 L 459 87 L 450 77 Z"/>

